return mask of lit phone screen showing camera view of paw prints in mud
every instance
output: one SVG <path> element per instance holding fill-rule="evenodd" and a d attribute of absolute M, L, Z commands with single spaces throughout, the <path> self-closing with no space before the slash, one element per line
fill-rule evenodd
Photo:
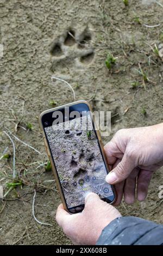
<path fill-rule="evenodd" d="M 90 113 L 44 129 L 68 211 L 82 211 L 88 192 L 111 203 L 115 195 Z"/>

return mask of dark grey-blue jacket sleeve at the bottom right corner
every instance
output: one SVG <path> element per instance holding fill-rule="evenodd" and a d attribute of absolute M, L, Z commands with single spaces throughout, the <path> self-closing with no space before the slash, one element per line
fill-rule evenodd
<path fill-rule="evenodd" d="M 136 217 L 116 218 L 96 245 L 163 245 L 163 225 Z"/>

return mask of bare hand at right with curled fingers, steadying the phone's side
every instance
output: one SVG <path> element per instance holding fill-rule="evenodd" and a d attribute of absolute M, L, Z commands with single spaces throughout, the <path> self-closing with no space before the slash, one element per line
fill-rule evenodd
<path fill-rule="evenodd" d="M 105 145 L 112 171 L 106 176 L 115 184 L 119 205 L 124 194 L 127 204 L 145 200 L 152 174 L 163 165 L 163 124 L 118 131 Z"/>

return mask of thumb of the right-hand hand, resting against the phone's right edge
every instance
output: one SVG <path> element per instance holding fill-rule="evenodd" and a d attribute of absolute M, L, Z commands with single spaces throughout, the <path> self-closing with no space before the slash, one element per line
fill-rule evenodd
<path fill-rule="evenodd" d="M 121 162 L 106 176 L 105 180 L 109 184 L 116 184 L 126 180 L 132 170 L 137 166 L 132 157 L 124 154 Z"/>

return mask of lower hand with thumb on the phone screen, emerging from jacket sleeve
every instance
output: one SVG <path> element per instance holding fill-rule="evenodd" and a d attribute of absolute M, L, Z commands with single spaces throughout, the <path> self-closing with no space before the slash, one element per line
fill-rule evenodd
<path fill-rule="evenodd" d="M 85 198 L 85 208 L 79 214 L 68 214 L 60 204 L 56 221 L 74 245 L 96 245 L 102 230 L 115 218 L 121 217 L 114 206 L 89 193 Z"/>

